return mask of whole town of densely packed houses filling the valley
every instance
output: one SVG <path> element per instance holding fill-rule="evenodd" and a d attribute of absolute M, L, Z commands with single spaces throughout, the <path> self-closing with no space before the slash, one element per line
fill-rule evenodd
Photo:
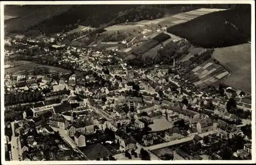
<path fill-rule="evenodd" d="M 6 160 L 251 159 L 251 93 L 221 83 L 226 70 L 215 85 L 190 75 L 221 66 L 210 55 L 194 70 L 175 58 L 145 67 L 124 58 L 157 37 L 190 45 L 164 26 L 123 48 L 67 44 L 100 31 L 5 36 Z"/>

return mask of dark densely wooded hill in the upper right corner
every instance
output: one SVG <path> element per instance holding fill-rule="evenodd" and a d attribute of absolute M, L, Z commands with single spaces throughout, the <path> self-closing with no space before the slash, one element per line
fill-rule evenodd
<path fill-rule="evenodd" d="M 169 27 L 167 31 L 204 48 L 244 44 L 250 40 L 251 12 L 248 9 L 213 12 Z"/>

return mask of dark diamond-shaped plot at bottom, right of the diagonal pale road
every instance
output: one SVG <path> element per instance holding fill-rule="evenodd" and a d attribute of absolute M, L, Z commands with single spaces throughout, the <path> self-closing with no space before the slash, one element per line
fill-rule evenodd
<path fill-rule="evenodd" d="M 107 148 L 101 145 L 101 143 L 88 145 L 79 149 L 91 160 L 96 160 L 97 157 L 103 158 L 104 156 L 109 157 L 113 155 Z"/>

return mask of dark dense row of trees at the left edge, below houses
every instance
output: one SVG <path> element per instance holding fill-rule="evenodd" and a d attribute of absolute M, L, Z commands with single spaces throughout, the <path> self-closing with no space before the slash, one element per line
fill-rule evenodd
<path fill-rule="evenodd" d="M 39 90 L 5 94 L 5 106 L 12 106 L 39 100 L 43 100 L 43 96 Z"/>

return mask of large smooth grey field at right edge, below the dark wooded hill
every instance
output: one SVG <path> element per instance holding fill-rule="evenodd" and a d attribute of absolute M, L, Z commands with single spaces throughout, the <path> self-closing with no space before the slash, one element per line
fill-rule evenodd
<path fill-rule="evenodd" d="M 224 84 L 251 93 L 250 44 L 217 49 L 212 53 L 212 57 L 231 71 L 231 75 L 223 82 Z"/>

